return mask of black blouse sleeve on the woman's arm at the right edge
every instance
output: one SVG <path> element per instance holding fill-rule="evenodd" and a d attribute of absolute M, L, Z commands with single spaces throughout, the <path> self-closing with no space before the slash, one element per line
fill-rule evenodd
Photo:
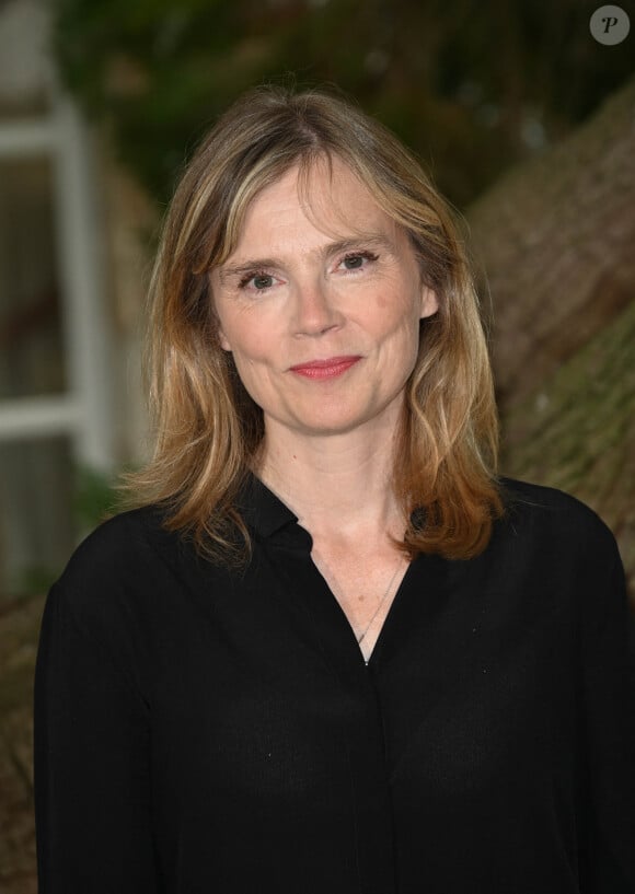
<path fill-rule="evenodd" d="M 589 894 L 635 894 L 635 660 L 624 571 L 612 541 L 582 639 Z M 598 574 L 592 579 L 598 582 Z"/>

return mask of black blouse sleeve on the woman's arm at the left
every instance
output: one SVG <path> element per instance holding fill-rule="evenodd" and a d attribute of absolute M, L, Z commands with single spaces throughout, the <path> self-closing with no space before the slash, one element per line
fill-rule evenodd
<path fill-rule="evenodd" d="M 147 706 L 67 595 L 49 593 L 35 674 L 39 894 L 158 894 Z"/>

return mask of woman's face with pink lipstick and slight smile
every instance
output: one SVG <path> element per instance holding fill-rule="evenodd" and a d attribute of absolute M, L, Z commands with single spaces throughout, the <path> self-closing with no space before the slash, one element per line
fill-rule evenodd
<path fill-rule="evenodd" d="M 211 272 L 221 347 L 265 431 L 330 436 L 396 423 L 419 320 L 437 310 L 403 230 L 349 169 L 318 163 L 259 193 Z"/>

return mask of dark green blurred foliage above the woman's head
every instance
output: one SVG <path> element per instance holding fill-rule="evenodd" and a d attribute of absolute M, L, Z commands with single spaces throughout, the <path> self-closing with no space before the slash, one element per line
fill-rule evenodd
<path fill-rule="evenodd" d="M 70 89 L 159 201 L 247 86 L 337 83 L 466 205 L 585 118 L 633 70 L 580 0 L 57 0 Z"/>

